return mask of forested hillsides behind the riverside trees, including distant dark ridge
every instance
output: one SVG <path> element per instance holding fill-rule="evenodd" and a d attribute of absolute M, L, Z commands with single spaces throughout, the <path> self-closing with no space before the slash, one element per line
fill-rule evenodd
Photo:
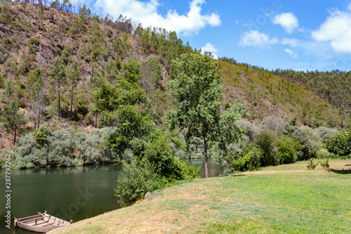
<path fill-rule="evenodd" d="M 164 126 L 166 110 L 173 106 L 167 85 L 172 60 L 201 51 L 184 44 L 176 32 L 157 25 L 143 28 L 122 15 L 117 20 L 110 15 L 93 15 L 86 6 L 73 14 L 69 13 L 69 1 L 54 3 L 55 8 L 0 4 L 1 115 L 13 102 L 25 111 L 18 126 L 11 129 L 1 124 L 0 150 L 11 148 L 14 134 L 33 133 L 41 125 L 52 131 L 72 127 L 86 133 L 113 126 L 106 111 L 125 103 L 142 103 L 152 122 Z M 269 115 L 286 121 L 297 117 L 301 124 L 314 127 L 343 127 L 349 121 L 349 79 L 333 79 L 348 77 L 348 73 L 286 74 L 229 59 L 217 62 L 225 88 L 222 111 L 239 100 L 249 113 L 246 118 L 256 124 Z M 336 85 L 337 80 L 345 84 Z M 348 88 L 336 93 L 333 86 Z M 119 99 L 109 92 L 126 96 Z"/>

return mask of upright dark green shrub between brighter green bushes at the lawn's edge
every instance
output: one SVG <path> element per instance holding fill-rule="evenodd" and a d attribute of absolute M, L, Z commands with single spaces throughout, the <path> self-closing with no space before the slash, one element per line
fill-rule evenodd
<path fill-rule="evenodd" d="M 260 165 L 262 167 L 275 165 L 276 162 L 276 148 L 274 147 L 276 136 L 273 131 L 263 130 L 258 135 L 256 145 L 262 150 L 263 155 L 260 158 Z"/>

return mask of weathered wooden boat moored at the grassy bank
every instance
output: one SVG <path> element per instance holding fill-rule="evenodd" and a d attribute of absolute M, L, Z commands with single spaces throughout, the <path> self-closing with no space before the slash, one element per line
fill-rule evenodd
<path fill-rule="evenodd" d="M 63 219 L 58 219 L 50 214 L 38 214 L 25 218 L 15 219 L 15 226 L 37 233 L 47 233 L 55 228 L 61 228 L 72 223 Z"/>

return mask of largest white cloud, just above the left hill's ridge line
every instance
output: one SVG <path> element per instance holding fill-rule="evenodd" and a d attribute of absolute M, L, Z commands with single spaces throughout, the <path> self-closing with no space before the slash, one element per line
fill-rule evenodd
<path fill-rule="evenodd" d="M 201 15 L 202 4 L 206 4 L 205 0 L 192 0 L 190 9 L 185 15 L 179 15 L 174 10 L 168 11 L 165 16 L 157 11 L 159 0 L 97 0 L 95 7 L 102 9 L 105 13 L 111 13 L 114 17 L 121 14 L 127 18 L 139 20 L 143 27 L 152 25 L 190 36 L 199 33 L 206 25 L 219 26 L 221 24 L 217 13 Z"/>

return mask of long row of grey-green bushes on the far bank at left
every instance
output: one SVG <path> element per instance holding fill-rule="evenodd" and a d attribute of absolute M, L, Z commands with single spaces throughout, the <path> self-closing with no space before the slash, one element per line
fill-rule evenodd
<path fill-rule="evenodd" d="M 73 129 L 51 132 L 41 126 L 32 134 L 23 135 L 12 152 L 14 168 L 73 167 L 83 164 L 112 162 L 109 149 L 100 150 L 114 128 L 93 129 L 91 134 Z"/>

